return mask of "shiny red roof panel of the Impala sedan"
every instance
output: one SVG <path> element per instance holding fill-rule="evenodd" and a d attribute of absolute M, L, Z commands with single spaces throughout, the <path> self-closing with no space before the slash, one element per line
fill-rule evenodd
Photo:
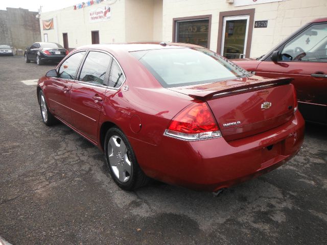
<path fill-rule="evenodd" d="M 115 43 L 115 44 L 91 44 L 84 45 L 76 48 L 76 50 L 84 49 L 97 49 L 104 51 L 125 51 L 125 52 L 134 52 L 134 51 L 143 51 L 143 50 L 161 50 L 167 48 L 203 48 L 202 46 L 189 44 L 189 43 L 175 43 L 175 42 L 137 42 L 137 43 Z"/>

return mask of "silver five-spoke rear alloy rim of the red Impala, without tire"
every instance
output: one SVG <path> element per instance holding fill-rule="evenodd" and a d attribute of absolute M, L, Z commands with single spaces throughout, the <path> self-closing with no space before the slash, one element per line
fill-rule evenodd
<path fill-rule="evenodd" d="M 127 182 L 131 176 L 131 162 L 124 141 L 117 135 L 109 139 L 108 157 L 115 177 L 121 182 Z"/>

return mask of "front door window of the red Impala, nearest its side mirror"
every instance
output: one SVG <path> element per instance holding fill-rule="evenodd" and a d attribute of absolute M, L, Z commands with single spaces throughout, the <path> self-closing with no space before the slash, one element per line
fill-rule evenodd
<path fill-rule="evenodd" d="M 59 78 L 64 79 L 76 79 L 77 68 L 85 54 L 85 51 L 78 52 L 72 56 L 69 56 L 59 68 Z"/>

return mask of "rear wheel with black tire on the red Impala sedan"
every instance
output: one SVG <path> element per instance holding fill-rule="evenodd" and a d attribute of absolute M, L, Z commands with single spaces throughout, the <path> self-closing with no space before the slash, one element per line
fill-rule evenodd
<path fill-rule="evenodd" d="M 110 175 L 119 187 L 134 190 L 149 182 L 137 163 L 127 137 L 119 128 L 113 127 L 107 131 L 104 149 Z"/>

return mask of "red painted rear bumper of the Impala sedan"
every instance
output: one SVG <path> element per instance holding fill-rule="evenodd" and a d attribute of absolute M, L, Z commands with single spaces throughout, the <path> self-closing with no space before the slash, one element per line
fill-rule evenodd
<path fill-rule="evenodd" d="M 163 136 L 158 145 L 132 137 L 129 140 L 139 165 L 149 177 L 216 191 L 258 177 L 291 159 L 303 142 L 304 126 L 296 111 L 284 125 L 229 142 L 223 137 L 183 141 Z"/>

